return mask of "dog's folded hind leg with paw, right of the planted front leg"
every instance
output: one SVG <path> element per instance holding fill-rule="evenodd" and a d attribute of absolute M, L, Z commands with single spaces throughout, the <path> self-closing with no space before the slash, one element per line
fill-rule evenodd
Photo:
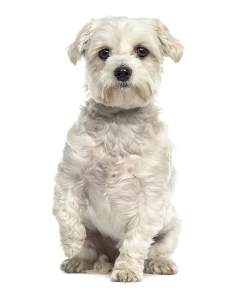
<path fill-rule="evenodd" d="M 177 265 L 169 257 L 177 247 L 179 232 L 180 221 L 174 217 L 150 246 L 148 259 L 145 260 L 145 273 L 172 275 L 178 272 Z"/>

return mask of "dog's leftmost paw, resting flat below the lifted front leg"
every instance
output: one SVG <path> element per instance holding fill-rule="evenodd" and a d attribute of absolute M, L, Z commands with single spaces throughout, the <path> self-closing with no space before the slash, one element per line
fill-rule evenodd
<path fill-rule="evenodd" d="M 65 259 L 60 265 L 60 269 L 65 273 L 84 273 L 92 267 L 90 262 L 82 259 Z"/>

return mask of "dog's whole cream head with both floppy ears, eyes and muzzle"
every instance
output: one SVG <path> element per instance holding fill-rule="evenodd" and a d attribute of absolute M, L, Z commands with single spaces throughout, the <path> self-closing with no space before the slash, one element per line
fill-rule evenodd
<path fill-rule="evenodd" d="M 76 65 L 84 56 L 91 97 L 106 106 L 144 106 L 158 92 L 163 57 L 179 62 L 183 47 L 160 20 L 106 17 L 91 20 L 70 45 Z"/>

